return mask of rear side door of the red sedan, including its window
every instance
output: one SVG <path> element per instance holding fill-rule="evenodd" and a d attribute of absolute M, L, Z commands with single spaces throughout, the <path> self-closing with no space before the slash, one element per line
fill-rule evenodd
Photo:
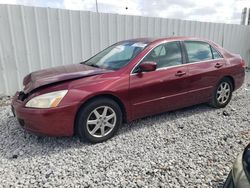
<path fill-rule="evenodd" d="M 214 47 L 203 41 L 184 41 L 184 47 L 191 100 L 194 104 L 207 102 L 223 74 L 225 60 Z"/>

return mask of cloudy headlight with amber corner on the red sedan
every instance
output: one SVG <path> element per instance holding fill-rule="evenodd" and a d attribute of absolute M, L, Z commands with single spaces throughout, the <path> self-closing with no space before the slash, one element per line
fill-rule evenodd
<path fill-rule="evenodd" d="M 36 96 L 30 99 L 25 107 L 31 108 L 53 108 L 57 107 L 63 97 L 67 94 L 68 90 L 55 91 Z"/>

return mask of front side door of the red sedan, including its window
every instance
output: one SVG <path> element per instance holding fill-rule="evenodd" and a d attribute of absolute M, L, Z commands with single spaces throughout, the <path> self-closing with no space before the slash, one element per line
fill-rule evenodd
<path fill-rule="evenodd" d="M 134 118 L 187 106 L 187 68 L 183 64 L 180 42 L 155 47 L 141 62 L 154 61 L 157 69 L 130 76 L 130 100 Z"/>

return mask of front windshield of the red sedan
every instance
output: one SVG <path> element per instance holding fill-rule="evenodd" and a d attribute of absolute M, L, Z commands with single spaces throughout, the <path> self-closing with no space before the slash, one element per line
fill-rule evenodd
<path fill-rule="evenodd" d="M 147 43 L 144 42 L 119 42 L 85 61 L 84 64 L 103 69 L 118 70 L 127 65 L 146 46 Z"/>

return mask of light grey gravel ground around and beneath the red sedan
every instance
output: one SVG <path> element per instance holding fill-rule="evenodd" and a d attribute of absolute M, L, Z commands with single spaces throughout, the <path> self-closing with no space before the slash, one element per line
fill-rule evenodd
<path fill-rule="evenodd" d="M 221 187 L 250 138 L 250 74 L 224 109 L 205 104 L 125 124 L 104 143 L 37 137 L 0 100 L 0 186 Z"/>

